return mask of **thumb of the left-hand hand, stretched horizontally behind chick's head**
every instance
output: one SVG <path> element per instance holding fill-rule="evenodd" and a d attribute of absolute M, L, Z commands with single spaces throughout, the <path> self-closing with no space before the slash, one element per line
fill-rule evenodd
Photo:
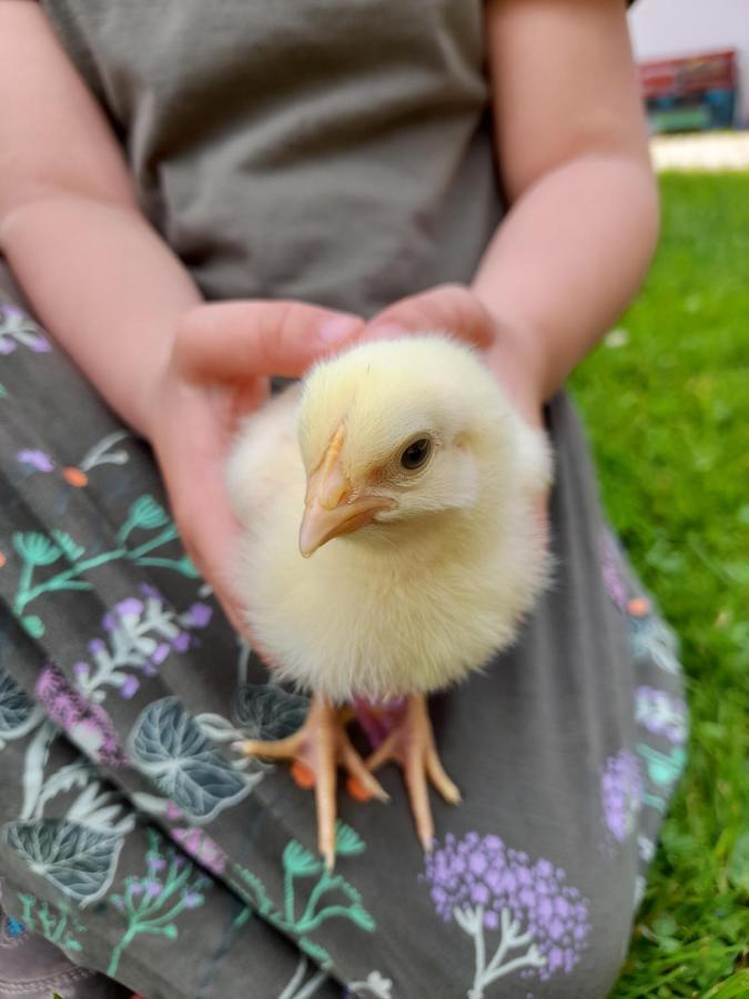
<path fill-rule="evenodd" d="M 194 382 L 298 377 L 364 330 L 364 321 L 303 302 L 216 302 L 189 312 L 174 360 Z"/>

